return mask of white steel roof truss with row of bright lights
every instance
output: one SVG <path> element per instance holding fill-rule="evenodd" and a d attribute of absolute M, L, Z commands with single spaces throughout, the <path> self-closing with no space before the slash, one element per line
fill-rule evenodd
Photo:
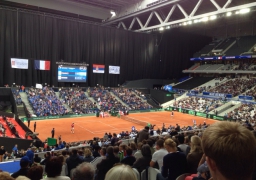
<path fill-rule="evenodd" d="M 144 7 L 143 7 L 144 5 Z M 215 21 L 219 18 L 255 14 L 254 0 L 158 0 L 142 4 L 128 13 L 123 8 L 117 16 L 103 23 L 104 26 L 117 23 L 118 28 L 136 32 L 150 32 L 197 23 Z M 137 25 L 136 25 L 137 24 Z"/>

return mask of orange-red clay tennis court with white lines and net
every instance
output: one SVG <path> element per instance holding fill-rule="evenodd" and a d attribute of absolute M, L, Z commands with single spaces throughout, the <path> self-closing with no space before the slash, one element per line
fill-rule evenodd
<path fill-rule="evenodd" d="M 127 116 L 130 119 L 135 119 L 144 122 L 145 124 L 155 124 L 155 129 L 162 128 L 162 124 L 166 126 L 176 125 L 178 123 L 181 127 L 193 125 L 193 120 L 196 120 L 197 124 L 206 121 L 207 124 L 212 124 L 216 120 L 201 118 L 192 116 L 189 114 L 182 114 L 174 112 L 174 116 L 171 117 L 170 112 L 150 112 L 150 113 L 136 113 L 129 114 Z M 71 134 L 71 123 L 75 123 L 75 133 Z M 142 123 L 143 124 L 143 123 Z M 55 128 L 54 138 L 62 136 L 62 140 L 66 142 L 89 140 L 93 137 L 102 138 L 104 133 L 120 133 L 121 131 L 130 131 L 132 126 L 140 130 L 143 125 L 139 125 L 133 122 L 129 122 L 117 117 L 79 117 L 79 118 L 63 118 L 63 119 L 51 119 L 51 120 L 39 120 L 37 121 L 36 132 L 39 133 L 39 138 L 44 141 L 46 138 L 51 137 L 51 130 Z M 33 121 L 30 124 L 31 130 L 33 130 Z"/>

